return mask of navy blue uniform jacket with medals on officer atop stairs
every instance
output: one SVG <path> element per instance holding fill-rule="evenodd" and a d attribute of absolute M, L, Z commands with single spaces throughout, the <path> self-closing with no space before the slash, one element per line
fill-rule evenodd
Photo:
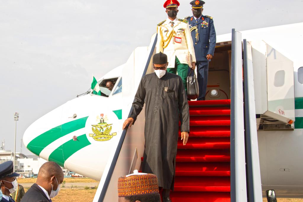
<path fill-rule="evenodd" d="M 198 28 L 198 38 L 196 31 L 191 32 L 192 41 L 194 42 L 195 55 L 197 61 L 210 61 L 206 59 L 208 54 L 214 55 L 216 46 L 216 31 L 214 21 L 209 16 L 202 15 L 196 23 L 193 16 L 186 18 L 189 28 L 196 26 Z"/>

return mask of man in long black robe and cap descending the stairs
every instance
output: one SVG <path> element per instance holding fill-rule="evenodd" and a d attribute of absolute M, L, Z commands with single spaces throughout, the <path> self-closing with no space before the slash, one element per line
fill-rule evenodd
<path fill-rule="evenodd" d="M 159 187 L 163 187 L 163 201 L 171 201 L 169 193 L 174 189 L 179 120 L 181 140 L 185 145 L 189 132 L 189 108 L 181 77 L 166 71 L 167 56 L 161 52 L 155 54 L 153 64 L 155 73 L 142 77 L 132 104 L 132 114 L 125 120 L 123 129 L 134 124 L 145 103 L 142 171 L 157 176 Z"/>

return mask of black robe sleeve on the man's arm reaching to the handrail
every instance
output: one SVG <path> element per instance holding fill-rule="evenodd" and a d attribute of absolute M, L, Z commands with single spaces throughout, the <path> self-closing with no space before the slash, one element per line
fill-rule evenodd
<path fill-rule="evenodd" d="M 140 85 L 138 86 L 137 93 L 135 95 L 134 102 L 132 104 L 132 113 L 129 116 L 130 118 L 134 119 L 133 124 L 135 123 L 137 116 L 142 111 L 142 108 L 144 106 L 144 99 L 145 99 L 145 87 L 144 87 L 144 78 L 143 77 L 140 81 Z"/>

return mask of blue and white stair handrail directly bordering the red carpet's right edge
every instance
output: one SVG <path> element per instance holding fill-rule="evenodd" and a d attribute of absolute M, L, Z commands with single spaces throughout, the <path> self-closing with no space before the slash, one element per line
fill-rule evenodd
<path fill-rule="evenodd" d="M 247 191 L 245 170 L 241 33 L 235 31 L 235 29 L 232 29 L 231 38 L 231 201 L 246 202 Z"/>

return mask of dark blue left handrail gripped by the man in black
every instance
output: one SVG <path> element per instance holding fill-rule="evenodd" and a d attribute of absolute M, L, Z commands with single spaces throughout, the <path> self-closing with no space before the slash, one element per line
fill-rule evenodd
<path fill-rule="evenodd" d="M 154 43 L 153 43 L 153 45 L 152 45 L 152 47 L 151 47 L 151 51 L 149 52 L 148 59 L 147 59 L 147 62 L 146 62 L 146 64 L 145 64 L 145 68 L 144 68 L 142 77 L 146 74 L 147 69 L 148 69 L 148 66 L 149 66 L 149 63 L 150 63 L 150 61 L 151 61 L 151 56 L 152 56 L 153 53 L 154 53 L 154 50 L 155 50 L 155 47 L 156 47 L 156 43 L 157 43 L 157 36 L 158 36 L 158 34 L 156 34 L 156 36 L 155 36 L 155 41 L 154 41 Z M 133 109 L 133 107 L 131 107 L 131 109 L 130 109 L 130 111 L 129 111 L 129 113 L 128 113 L 128 117 L 131 115 L 132 109 Z M 103 185 L 103 187 L 102 187 L 101 194 L 100 194 L 99 199 L 98 199 L 98 202 L 103 202 L 103 200 L 104 200 L 104 197 L 105 197 L 105 194 L 106 194 L 108 185 L 109 185 L 110 180 L 111 180 L 111 178 L 112 178 L 112 174 L 113 174 L 113 172 L 114 172 L 114 169 L 115 169 L 115 166 L 116 166 L 118 157 L 119 157 L 119 155 L 120 155 L 120 151 L 121 151 L 121 148 L 122 148 L 122 145 L 123 145 L 123 142 L 124 142 L 126 133 L 127 133 L 127 129 L 128 129 L 128 127 L 126 127 L 126 129 L 123 129 L 123 131 L 122 131 L 121 137 L 120 137 L 120 139 L 119 139 L 118 146 L 117 146 L 117 148 L 116 148 L 116 151 L 115 151 L 115 154 L 114 154 L 112 163 L 111 163 L 111 165 L 110 165 L 110 167 L 109 167 L 109 170 L 108 170 L 108 173 L 107 173 L 107 176 L 106 176 L 104 185 Z"/>

